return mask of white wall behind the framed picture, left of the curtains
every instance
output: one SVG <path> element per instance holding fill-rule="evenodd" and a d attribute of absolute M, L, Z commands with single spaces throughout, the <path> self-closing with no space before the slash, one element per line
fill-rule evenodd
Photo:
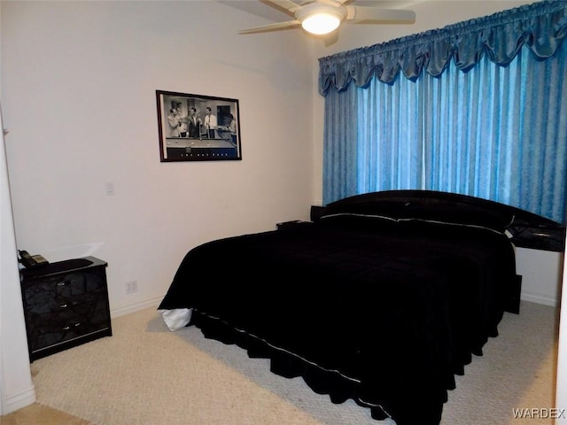
<path fill-rule="evenodd" d="M 161 298 L 198 243 L 307 219 L 314 63 L 301 34 L 237 36 L 258 18 L 210 1 L 2 8 L 19 248 L 108 261 L 113 314 Z M 237 98 L 242 161 L 160 163 L 156 89 Z"/>

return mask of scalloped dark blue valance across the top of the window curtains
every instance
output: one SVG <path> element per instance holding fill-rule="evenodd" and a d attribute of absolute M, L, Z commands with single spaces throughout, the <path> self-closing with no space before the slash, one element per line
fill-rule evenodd
<path fill-rule="evenodd" d="M 400 70 L 410 80 L 423 70 L 439 76 L 451 60 L 466 71 L 484 55 L 505 66 L 524 45 L 549 58 L 566 36 L 567 1 L 541 1 L 320 58 L 319 93 L 345 90 L 351 81 L 365 87 L 373 77 L 392 83 Z"/>

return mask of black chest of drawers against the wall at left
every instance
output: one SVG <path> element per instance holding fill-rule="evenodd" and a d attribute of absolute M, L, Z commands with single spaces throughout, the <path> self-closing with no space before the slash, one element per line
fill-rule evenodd
<path fill-rule="evenodd" d="M 30 361 L 113 335 L 106 266 L 84 257 L 20 270 Z"/>

